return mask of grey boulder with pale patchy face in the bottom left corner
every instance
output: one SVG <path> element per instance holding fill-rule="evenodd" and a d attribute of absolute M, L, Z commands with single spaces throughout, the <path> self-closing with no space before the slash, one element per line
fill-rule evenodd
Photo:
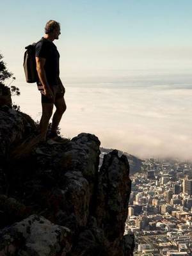
<path fill-rule="evenodd" d="M 71 234 L 66 227 L 31 215 L 0 233 L 0 255 L 65 256 L 71 248 Z M 9 253 L 9 254 L 8 254 Z"/>

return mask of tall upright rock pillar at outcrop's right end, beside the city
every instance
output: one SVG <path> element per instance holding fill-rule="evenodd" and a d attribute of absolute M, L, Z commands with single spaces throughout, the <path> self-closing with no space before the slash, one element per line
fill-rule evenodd
<path fill-rule="evenodd" d="M 106 236 L 111 256 L 123 255 L 123 236 L 131 193 L 127 157 L 113 150 L 106 156 L 99 172 L 96 218 Z"/>

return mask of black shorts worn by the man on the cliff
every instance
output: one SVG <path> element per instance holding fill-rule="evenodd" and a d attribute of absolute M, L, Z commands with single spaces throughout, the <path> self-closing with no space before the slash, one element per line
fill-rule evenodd
<path fill-rule="evenodd" d="M 54 103 L 57 99 L 63 98 L 65 94 L 65 87 L 62 84 L 50 85 L 53 98 L 48 98 L 44 95 L 44 88 L 42 84 L 38 83 L 38 90 L 42 94 L 42 103 Z"/>

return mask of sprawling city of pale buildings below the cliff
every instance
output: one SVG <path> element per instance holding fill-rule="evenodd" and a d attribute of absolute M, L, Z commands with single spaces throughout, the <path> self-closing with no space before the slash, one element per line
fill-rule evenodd
<path fill-rule="evenodd" d="M 147 159 L 130 177 L 125 234 L 135 236 L 134 256 L 192 255 L 192 164 Z"/>

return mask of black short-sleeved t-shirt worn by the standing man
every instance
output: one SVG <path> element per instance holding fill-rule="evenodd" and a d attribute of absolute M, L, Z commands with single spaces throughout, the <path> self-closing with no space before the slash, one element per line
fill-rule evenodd
<path fill-rule="evenodd" d="M 60 54 L 53 42 L 42 37 L 42 40 L 36 44 L 35 56 L 45 58 L 45 74 L 49 85 L 58 84 L 60 76 Z"/>

